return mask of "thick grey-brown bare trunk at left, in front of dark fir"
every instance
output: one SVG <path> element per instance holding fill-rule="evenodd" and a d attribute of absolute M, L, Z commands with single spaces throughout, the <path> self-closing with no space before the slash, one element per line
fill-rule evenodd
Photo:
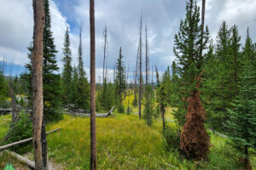
<path fill-rule="evenodd" d="M 33 111 L 33 146 L 36 170 L 48 169 L 47 158 L 43 159 L 42 132 L 44 119 L 43 105 L 43 36 L 44 36 L 44 3 L 33 0 L 34 34 L 32 54 L 32 111 Z M 45 153 L 44 153 L 45 154 Z M 45 156 L 45 155 L 44 155 Z M 46 152 L 47 157 L 47 152 Z"/>

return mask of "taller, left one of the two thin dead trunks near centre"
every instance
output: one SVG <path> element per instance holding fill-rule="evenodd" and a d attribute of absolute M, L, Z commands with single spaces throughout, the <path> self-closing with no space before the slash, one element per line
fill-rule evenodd
<path fill-rule="evenodd" d="M 141 16 L 140 21 L 140 40 L 139 40 L 139 67 L 140 67 L 140 88 L 139 88 L 139 117 L 142 118 L 142 98 L 143 98 L 143 15 Z"/>

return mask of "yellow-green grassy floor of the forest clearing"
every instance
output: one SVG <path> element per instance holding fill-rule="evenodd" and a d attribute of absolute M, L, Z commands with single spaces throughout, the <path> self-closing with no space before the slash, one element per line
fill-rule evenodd
<path fill-rule="evenodd" d="M 134 111 L 135 112 L 135 111 Z M 166 119 L 172 119 L 172 109 Z M 0 140 L 7 132 L 11 117 L 0 116 Z M 169 122 L 168 126 L 176 126 Z M 60 122 L 47 125 L 47 131 L 61 127 L 47 137 L 49 161 L 55 169 L 89 169 L 90 167 L 90 119 L 64 115 Z M 236 150 L 225 139 L 208 131 L 211 152 L 208 161 L 189 161 L 177 151 L 167 151 L 162 136 L 160 119 L 148 127 L 137 115 L 114 114 L 108 118 L 96 118 L 98 169 L 241 169 Z M 32 144 L 26 156 L 32 157 Z M 10 156 L 0 156 L 0 169 L 12 163 L 15 169 L 28 169 Z M 256 169 L 256 157 L 251 157 Z"/>

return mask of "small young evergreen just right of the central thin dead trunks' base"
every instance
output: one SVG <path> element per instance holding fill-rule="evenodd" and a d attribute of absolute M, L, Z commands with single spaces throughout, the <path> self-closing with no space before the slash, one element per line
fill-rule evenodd
<path fill-rule="evenodd" d="M 156 111 L 154 109 L 154 90 L 151 85 L 148 85 L 144 94 L 144 110 L 143 119 L 147 122 L 148 126 L 151 126 L 156 117 Z"/>

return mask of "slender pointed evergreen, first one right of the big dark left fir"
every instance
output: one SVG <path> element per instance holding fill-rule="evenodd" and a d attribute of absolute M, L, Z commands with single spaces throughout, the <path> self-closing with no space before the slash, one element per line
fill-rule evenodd
<path fill-rule="evenodd" d="M 71 88 L 72 88 L 72 57 L 71 57 L 71 49 L 70 49 L 70 39 L 68 33 L 68 27 L 65 32 L 64 37 L 64 48 L 63 48 L 64 58 L 62 61 L 64 62 L 63 71 L 62 71 L 62 88 L 64 94 L 64 104 L 68 105 L 71 102 Z"/>

